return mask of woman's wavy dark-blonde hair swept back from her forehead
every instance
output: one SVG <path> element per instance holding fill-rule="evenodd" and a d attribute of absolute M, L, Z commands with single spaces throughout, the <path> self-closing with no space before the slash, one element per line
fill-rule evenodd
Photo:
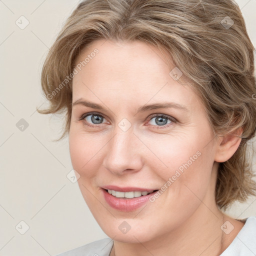
<path fill-rule="evenodd" d="M 218 207 L 226 209 L 235 200 L 255 195 L 248 153 L 256 130 L 254 48 L 237 4 L 232 0 L 80 2 L 51 46 L 41 73 L 42 90 L 50 105 L 37 110 L 65 111 L 61 138 L 70 126 L 75 59 L 84 47 L 102 38 L 140 40 L 168 52 L 202 100 L 214 134 L 242 128 L 238 149 L 219 163 Z"/>

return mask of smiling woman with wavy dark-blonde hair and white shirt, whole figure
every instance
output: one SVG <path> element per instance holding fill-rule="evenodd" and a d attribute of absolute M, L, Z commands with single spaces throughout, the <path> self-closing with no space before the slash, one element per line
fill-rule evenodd
<path fill-rule="evenodd" d="M 85 0 L 45 60 L 81 193 L 110 237 L 60 254 L 256 254 L 253 46 L 232 0 Z"/>

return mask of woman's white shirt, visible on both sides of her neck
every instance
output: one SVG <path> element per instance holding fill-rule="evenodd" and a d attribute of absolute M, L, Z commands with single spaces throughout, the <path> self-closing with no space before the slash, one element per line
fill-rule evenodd
<path fill-rule="evenodd" d="M 56 256 L 109 256 L 113 240 L 105 238 Z M 248 217 L 231 244 L 219 256 L 256 256 L 256 216 Z"/>

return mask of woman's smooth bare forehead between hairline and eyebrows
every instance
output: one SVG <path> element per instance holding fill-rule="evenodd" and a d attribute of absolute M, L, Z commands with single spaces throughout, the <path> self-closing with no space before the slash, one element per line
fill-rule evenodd
<path fill-rule="evenodd" d="M 142 103 L 197 102 L 193 91 L 169 74 L 175 65 L 167 61 L 164 51 L 148 43 L 96 40 L 80 52 L 75 61 L 79 63 L 84 65 L 73 78 L 74 100 L 87 96 L 97 102 L 109 97 Z"/>

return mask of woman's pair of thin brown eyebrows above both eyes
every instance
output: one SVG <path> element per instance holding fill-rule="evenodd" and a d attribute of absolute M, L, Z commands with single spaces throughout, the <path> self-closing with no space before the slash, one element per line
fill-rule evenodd
<path fill-rule="evenodd" d="M 75 105 L 84 105 L 84 106 L 88 106 L 91 108 L 95 108 L 98 110 L 102 110 L 102 111 L 106 111 L 106 108 L 104 108 L 103 106 L 97 104 L 97 103 L 93 103 L 91 101 L 87 101 L 87 100 L 83 100 L 83 99 L 77 99 L 76 101 L 74 101 L 72 103 L 72 107 Z M 174 103 L 174 102 L 163 102 L 163 103 L 154 103 L 154 104 L 147 104 L 147 105 L 142 105 L 140 107 L 137 108 L 136 112 L 143 112 L 143 111 L 148 111 L 148 110 L 153 110 L 153 109 L 158 109 L 158 108 L 178 108 L 184 111 L 188 111 L 188 109 L 179 103 Z"/>

